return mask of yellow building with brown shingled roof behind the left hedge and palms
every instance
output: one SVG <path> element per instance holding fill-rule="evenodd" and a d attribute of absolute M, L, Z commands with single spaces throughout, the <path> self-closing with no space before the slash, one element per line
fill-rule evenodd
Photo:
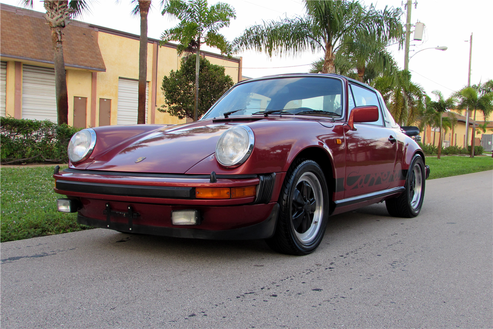
<path fill-rule="evenodd" d="M 43 13 L 0 5 L 0 115 L 57 121 L 50 28 Z M 241 81 L 241 58 L 201 52 Z M 137 123 L 139 36 L 73 21 L 64 29 L 69 124 L 76 127 Z M 147 43 L 146 123 L 184 123 L 157 109 L 163 77 L 180 66 L 176 44 Z"/>

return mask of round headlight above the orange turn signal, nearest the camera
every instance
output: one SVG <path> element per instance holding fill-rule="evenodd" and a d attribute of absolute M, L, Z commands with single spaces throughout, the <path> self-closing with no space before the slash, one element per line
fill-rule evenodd
<path fill-rule="evenodd" d="M 248 126 L 236 126 L 226 130 L 216 144 L 216 159 L 226 167 L 239 166 L 253 150 L 253 132 Z"/>

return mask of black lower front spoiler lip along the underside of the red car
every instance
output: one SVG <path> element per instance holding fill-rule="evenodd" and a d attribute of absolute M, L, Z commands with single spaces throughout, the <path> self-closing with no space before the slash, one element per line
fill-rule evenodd
<path fill-rule="evenodd" d="M 139 233 L 149 235 L 170 236 L 175 238 L 192 238 L 192 239 L 209 239 L 209 240 L 255 240 L 267 239 L 274 235 L 279 213 L 279 204 L 272 209 L 270 216 L 254 225 L 230 229 L 230 230 L 202 230 L 185 227 L 166 227 L 136 225 L 131 220 L 128 223 L 110 222 L 105 220 L 92 219 L 82 215 L 77 216 L 77 222 L 82 225 L 93 226 L 97 228 L 108 228 L 119 232 Z"/>

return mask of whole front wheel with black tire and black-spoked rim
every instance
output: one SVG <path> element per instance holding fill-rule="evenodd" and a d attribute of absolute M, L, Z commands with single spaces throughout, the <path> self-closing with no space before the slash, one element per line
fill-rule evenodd
<path fill-rule="evenodd" d="M 274 236 L 266 242 L 288 255 L 308 255 L 317 249 L 327 225 L 329 193 L 325 176 L 313 160 L 296 161 L 286 174 L 279 196 Z"/>

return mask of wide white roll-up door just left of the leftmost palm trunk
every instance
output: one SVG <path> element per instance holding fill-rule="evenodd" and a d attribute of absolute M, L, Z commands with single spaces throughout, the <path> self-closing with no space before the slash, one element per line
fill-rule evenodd
<path fill-rule="evenodd" d="M 22 118 L 57 122 L 54 69 L 23 65 Z"/>

